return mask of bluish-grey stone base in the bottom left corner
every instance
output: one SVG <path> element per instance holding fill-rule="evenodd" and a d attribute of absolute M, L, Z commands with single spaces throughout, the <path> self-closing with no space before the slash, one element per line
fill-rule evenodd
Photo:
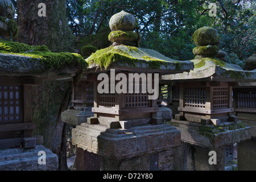
<path fill-rule="evenodd" d="M 46 152 L 46 164 L 39 164 L 39 151 Z M 0 150 L 1 171 L 55 171 L 58 168 L 58 158 L 51 150 L 36 145 L 34 148 L 8 148 Z"/>

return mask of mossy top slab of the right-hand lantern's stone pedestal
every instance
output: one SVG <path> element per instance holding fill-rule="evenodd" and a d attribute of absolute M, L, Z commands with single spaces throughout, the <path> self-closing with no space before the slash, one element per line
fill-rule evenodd
<path fill-rule="evenodd" d="M 228 124 L 206 126 L 201 123 L 172 119 L 172 125 L 181 131 L 181 141 L 195 146 L 218 148 L 251 138 L 250 127 L 243 125 L 241 122 Z"/>

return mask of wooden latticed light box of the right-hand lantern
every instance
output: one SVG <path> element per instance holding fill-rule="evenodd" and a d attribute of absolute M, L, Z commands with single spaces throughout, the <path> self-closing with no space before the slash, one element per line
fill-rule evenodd
<path fill-rule="evenodd" d="M 178 120 L 229 121 L 234 111 L 232 105 L 233 82 L 180 82 L 180 106 Z"/>

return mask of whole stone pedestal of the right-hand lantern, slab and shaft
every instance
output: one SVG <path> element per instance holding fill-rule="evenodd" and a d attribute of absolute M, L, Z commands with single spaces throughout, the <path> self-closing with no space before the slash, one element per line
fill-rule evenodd
<path fill-rule="evenodd" d="M 174 169 L 224 171 L 226 146 L 242 143 L 251 138 L 250 127 L 246 127 L 242 122 L 214 126 L 172 119 L 171 123 L 181 131 L 181 146 L 183 148 L 175 152 L 184 156 L 184 160 L 174 161 Z M 210 151 L 213 151 L 214 154 Z M 215 164 L 211 163 L 214 161 L 214 156 L 216 156 Z"/>

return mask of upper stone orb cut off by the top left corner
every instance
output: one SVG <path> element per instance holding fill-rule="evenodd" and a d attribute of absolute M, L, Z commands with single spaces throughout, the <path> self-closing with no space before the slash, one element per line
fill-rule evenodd
<path fill-rule="evenodd" d="M 10 0 L 0 1 L 0 16 L 4 18 L 14 18 L 14 5 Z"/>

